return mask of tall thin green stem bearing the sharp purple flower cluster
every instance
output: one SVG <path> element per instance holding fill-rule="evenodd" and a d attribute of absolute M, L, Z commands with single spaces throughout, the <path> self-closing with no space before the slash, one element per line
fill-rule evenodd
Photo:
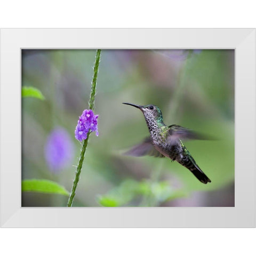
<path fill-rule="evenodd" d="M 96 93 L 96 84 L 97 84 L 98 71 L 99 71 L 100 53 L 101 53 L 101 50 L 97 50 L 96 57 L 95 57 L 95 62 L 94 62 L 94 68 L 93 68 L 93 79 L 92 79 L 92 87 L 91 87 L 91 94 L 90 94 L 90 100 L 89 100 L 89 109 L 92 109 L 93 111 L 94 111 L 94 108 L 95 108 L 95 106 L 94 106 L 95 105 L 95 93 Z M 73 181 L 73 186 L 72 186 L 69 198 L 68 198 L 68 203 L 67 203 L 68 207 L 72 206 L 73 201 L 74 201 L 74 197 L 76 195 L 76 188 L 77 188 L 80 173 L 81 173 L 81 170 L 82 170 L 82 166 L 83 166 L 83 162 L 84 162 L 84 155 L 85 155 L 85 151 L 86 151 L 86 148 L 87 148 L 87 145 L 88 145 L 88 140 L 89 140 L 90 133 L 91 132 L 89 132 L 87 134 L 87 138 L 83 142 L 81 154 L 80 154 L 78 165 L 77 165 L 77 168 L 76 168 L 75 179 Z"/>

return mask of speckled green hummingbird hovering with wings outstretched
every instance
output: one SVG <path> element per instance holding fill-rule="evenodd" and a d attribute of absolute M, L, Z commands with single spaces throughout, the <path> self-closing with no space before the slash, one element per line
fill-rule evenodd
<path fill-rule="evenodd" d="M 196 164 L 194 158 L 191 156 L 185 145 L 183 139 L 206 139 L 203 135 L 193 132 L 180 125 L 164 124 L 162 111 L 159 107 L 149 105 L 135 105 L 132 103 L 124 102 L 123 104 L 133 106 L 142 111 L 150 136 L 147 137 L 142 143 L 134 146 L 125 154 L 130 156 L 155 156 L 155 157 L 168 157 L 173 161 L 177 161 L 185 166 L 195 177 L 206 184 L 211 180 Z"/>

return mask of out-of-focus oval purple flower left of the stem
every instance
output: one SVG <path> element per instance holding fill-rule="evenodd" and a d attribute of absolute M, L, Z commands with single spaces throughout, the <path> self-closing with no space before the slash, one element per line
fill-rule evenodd
<path fill-rule="evenodd" d="M 46 163 L 52 172 L 58 173 L 73 159 L 74 145 L 68 132 L 55 128 L 47 138 L 44 154 Z"/>

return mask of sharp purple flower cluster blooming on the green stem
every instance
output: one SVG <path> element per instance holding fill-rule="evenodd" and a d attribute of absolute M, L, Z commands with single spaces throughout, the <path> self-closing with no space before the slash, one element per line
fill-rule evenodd
<path fill-rule="evenodd" d="M 79 117 L 77 121 L 77 126 L 75 130 L 75 138 L 79 141 L 87 139 L 87 133 L 89 130 L 95 132 L 95 135 L 98 136 L 98 119 L 99 115 L 94 115 L 91 109 L 85 109 L 83 114 Z"/>

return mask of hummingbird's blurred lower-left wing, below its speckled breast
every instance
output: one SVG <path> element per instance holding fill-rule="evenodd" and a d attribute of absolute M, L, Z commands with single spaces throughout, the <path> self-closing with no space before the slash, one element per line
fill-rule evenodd
<path fill-rule="evenodd" d="M 155 157 L 164 157 L 159 151 L 157 151 L 151 143 L 150 137 L 147 137 L 142 143 L 135 145 L 124 155 L 127 156 L 155 156 Z"/>

